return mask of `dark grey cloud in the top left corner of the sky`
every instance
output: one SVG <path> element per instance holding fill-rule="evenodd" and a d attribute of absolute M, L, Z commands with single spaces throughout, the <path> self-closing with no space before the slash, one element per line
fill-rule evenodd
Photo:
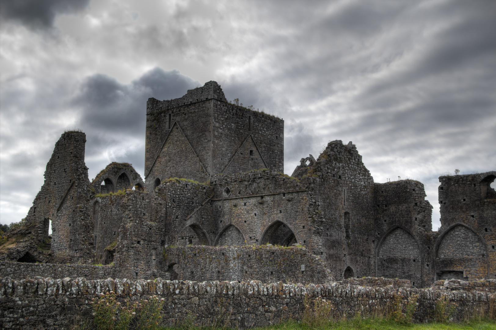
<path fill-rule="evenodd" d="M 58 14 L 84 9 L 90 0 L 1 0 L 0 18 L 29 27 L 51 27 Z"/>

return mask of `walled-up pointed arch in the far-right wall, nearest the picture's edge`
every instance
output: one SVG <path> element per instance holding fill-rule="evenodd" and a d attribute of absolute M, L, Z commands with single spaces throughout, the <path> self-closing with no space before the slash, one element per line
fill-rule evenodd
<path fill-rule="evenodd" d="M 489 277 L 488 247 L 482 235 L 463 222 L 446 228 L 434 245 L 435 278 L 463 273 L 471 279 Z"/>

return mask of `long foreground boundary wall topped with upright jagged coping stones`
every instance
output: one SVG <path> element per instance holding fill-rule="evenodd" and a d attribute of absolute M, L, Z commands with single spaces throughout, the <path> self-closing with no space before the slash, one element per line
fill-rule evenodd
<path fill-rule="evenodd" d="M 454 283 L 452 283 L 454 284 Z M 454 286 L 454 285 L 453 285 Z M 156 280 L 85 280 L 84 278 L 36 278 L 12 280 L 0 278 L 1 326 L 4 329 L 60 329 L 67 324 L 67 312 L 77 308 L 83 315 L 91 313 L 89 302 L 102 293 L 114 291 L 118 299 L 131 301 L 164 298 L 162 319 L 169 326 L 195 316 L 198 326 L 224 324 L 248 329 L 278 323 L 292 318 L 300 320 L 305 299 L 318 297 L 333 304 L 332 317 L 352 317 L 384 310 L 398 300 L 406 306 L 408 299 L 418 295 L 414 321 L 434 320 L 437 300 L 447 299 L 455 306 L 453 319 L 464 320 L 475 311 L 489 314 L 495 294 L 407 287 L 363 287 L 342 284 L 263 284 L 249 282 L 194 282 Z M 494 308 L 494 305 L 493 305 Z"/>

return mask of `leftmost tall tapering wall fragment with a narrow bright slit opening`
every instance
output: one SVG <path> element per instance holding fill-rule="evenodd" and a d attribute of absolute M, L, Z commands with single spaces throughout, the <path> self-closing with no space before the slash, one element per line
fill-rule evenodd
<path fill-rule="evenodd" d="M 45 183 L 28 211 L 24 226 L 8 234 L 17 238 L 17 244 L 2 249 L 1 259 L 90 263 L 93 223 L 88 205 L 91 186 L 84 164 L 85 142 L 86 135 L 82 132 L 62 134 L 47 163 Z M 43 251 L 50 243 L 51 251 Z"/>

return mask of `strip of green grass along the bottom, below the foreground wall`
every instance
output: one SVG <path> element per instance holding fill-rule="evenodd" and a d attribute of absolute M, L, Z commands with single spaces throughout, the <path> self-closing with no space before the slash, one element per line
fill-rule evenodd
<path fill-rule="evenodd" d="M 160 330 L 229 330 L 228 327 L 178 327 L 178 328 L 157 328 Z M 399 324 L 388 319 L 362 319 L 355 318 L 352 320 L 335 321 L 322 327 L 310 327 L 304 323 L 288 321 L 275 326 L 263 328 L 254 328 L 253 330 L 495 330 L 496 322 L 493 320 L 486 321 L 468 321 L 461 323 L 410 323 L 406 325 Z"/>

